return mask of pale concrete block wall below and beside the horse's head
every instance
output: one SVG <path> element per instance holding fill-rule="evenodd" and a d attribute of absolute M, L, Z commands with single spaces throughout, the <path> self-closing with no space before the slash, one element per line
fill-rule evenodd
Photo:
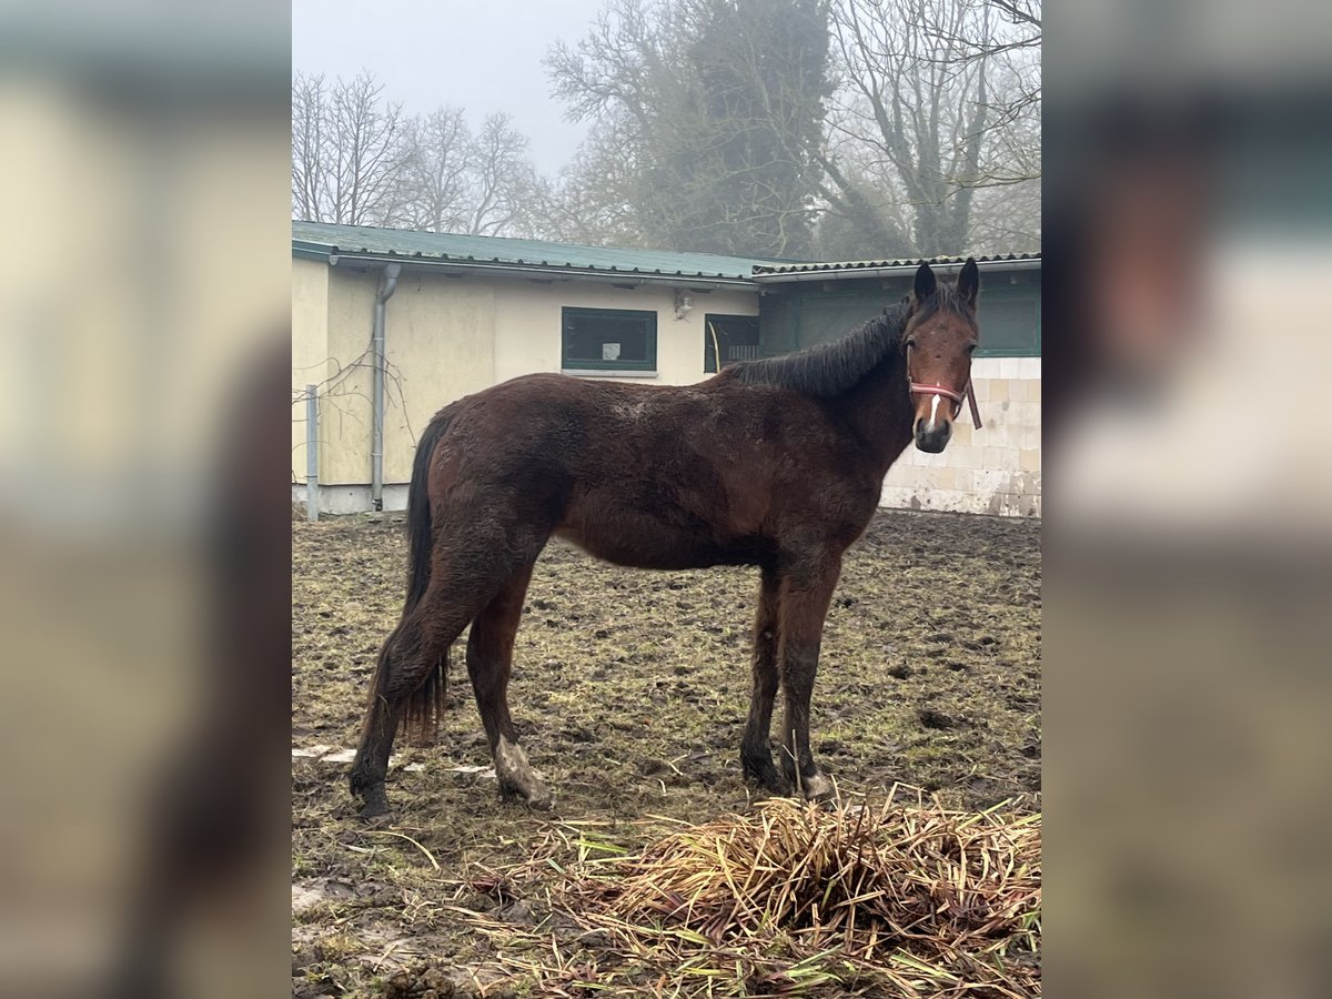
<path fill-rule="evenodd" d="M 1040 358 L 980 357 L 971 380 L 984 426 L 966 408 L 942 454 L 908 446 L 883 481 L 883 506 L 1040 517 Z"/>

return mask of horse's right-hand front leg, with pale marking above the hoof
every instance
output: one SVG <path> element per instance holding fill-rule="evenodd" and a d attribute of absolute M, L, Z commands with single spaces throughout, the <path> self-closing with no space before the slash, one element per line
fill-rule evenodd
<path fill-rule="evenodd" d="M 819 773 L 810 751 L 810 698 L 819 665 L 823 621 L 842 571 L 840 553 L 797 561 L 779 587 L 777 662 L 786 697 L 782 723 L 782 771 L 809 801 L 832 797 L 832 782 Z"/>

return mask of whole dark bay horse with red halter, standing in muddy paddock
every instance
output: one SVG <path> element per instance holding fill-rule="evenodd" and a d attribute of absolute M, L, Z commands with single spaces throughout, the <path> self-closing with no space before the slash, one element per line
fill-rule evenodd
<path fill-rule="evenodd" d="M 847 336 L 741 361 L 689 386 L 529 374 L 440 410 L 408 493 L 402 618 L 384 642 L 352 794 L 389 810 L 400 727 L 428 741 L 449 647 L 470 623 L 468 674 L 501 793 L 546 807 L 509 715 L 514 635 L 551 535 L 638 569 L 759 569 L 745 775 L 811 801 L 832 783 L 810 753 L 810 695 L 842 553 L 868 526 L 888 466 L 914 440 L 942 452 L 971 381 L 979 272 L 922 264 L 912 290 Z M 769 743 L 786 701 L 781 770 Z"/>

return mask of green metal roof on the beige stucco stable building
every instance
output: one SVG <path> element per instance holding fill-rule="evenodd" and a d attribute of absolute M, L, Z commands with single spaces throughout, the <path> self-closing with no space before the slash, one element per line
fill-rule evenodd
<path fill-rule="evenodd" d="M 401 260 L 404 264 L 454 265 L 490 270 L 542 270 L 569 274 L 623 274 L 629 278 L 694 278 L 750 284 L 759 266 L 794 261 L 725 257 L 717 253 L 579 246 L 571 242 L 510 240 L 500 236 L 377 229 L 369 225 L 292 222 L 298 256 Z"/>

